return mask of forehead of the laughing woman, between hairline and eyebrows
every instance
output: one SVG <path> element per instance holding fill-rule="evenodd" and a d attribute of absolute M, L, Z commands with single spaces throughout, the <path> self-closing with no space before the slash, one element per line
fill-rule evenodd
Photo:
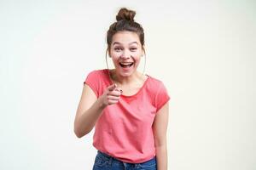
<path fill-rule="evenodd" d="M 112 45 L 114 42 L 119 42 L 118 44 L 123 45 L 129 45 L 131 42 L 137 42 L 132 44 L 141 44 L 137 33 L 132 31 L 119 31 L 115 33 L 112 38 Z"/>

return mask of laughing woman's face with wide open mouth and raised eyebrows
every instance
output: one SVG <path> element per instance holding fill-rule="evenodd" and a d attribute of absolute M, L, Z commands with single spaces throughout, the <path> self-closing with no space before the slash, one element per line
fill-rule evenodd
<path fill-rule="evenodd" d="M 131 76 L 134 71 L 137 71 L 137 66 L 143 55 L 143 47 L 137 33 L 132 31 L 119 31 L 115 33 L 109 55 L 120 76 Z"/>

